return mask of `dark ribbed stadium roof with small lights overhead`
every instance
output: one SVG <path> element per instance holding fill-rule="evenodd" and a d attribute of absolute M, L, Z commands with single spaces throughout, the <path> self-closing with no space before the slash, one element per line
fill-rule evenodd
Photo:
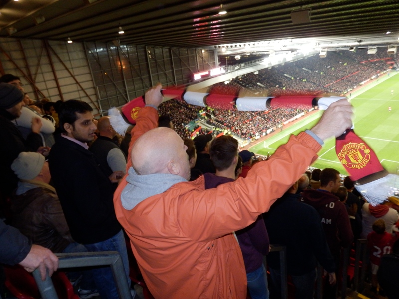
<path fill-rule="evenodd" d="M 1 0 L 0 9 L 0 36 L 15 38 L 238 48 L 281 39 L 397 43 L 399 36 L 397 0 Z"/>

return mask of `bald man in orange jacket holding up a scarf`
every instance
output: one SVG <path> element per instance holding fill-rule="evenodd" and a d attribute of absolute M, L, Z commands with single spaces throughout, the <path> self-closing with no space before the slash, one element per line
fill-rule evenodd
<path fill-rule="evenodd" d="M 231 232 L 269 210 L 317 158 L 322 140 L 352 126 L 351 105 L 332 104 L 311 131 L 291 136 L 247 178 L 205 190 L 203 176 L 187 181 L 190 166 L 180 137 L 154 129 L 160 90 L 158 85 L 146 93 L 131 133 L 132 167 L 114 194 L 118 221 L 155 298 L 244 299 L 245 268 Z"/>

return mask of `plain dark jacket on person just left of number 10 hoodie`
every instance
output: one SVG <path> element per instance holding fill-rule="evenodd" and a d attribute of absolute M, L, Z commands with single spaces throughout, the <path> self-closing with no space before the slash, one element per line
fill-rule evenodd
<path fill-rule="evenodd" d="M 334 272 L 334 259 L 319 215 L 313 207 L 298 201 L 299 198 L 297 194 L 284 194 L 263 214 L 270 244 L 287 246 L 290 275 L 309 273 L 316 268 L 316 261 L 328 272 Z M 279 269 L 279 253 L 270 252 L 267 264 L 272 269 Z"/>

